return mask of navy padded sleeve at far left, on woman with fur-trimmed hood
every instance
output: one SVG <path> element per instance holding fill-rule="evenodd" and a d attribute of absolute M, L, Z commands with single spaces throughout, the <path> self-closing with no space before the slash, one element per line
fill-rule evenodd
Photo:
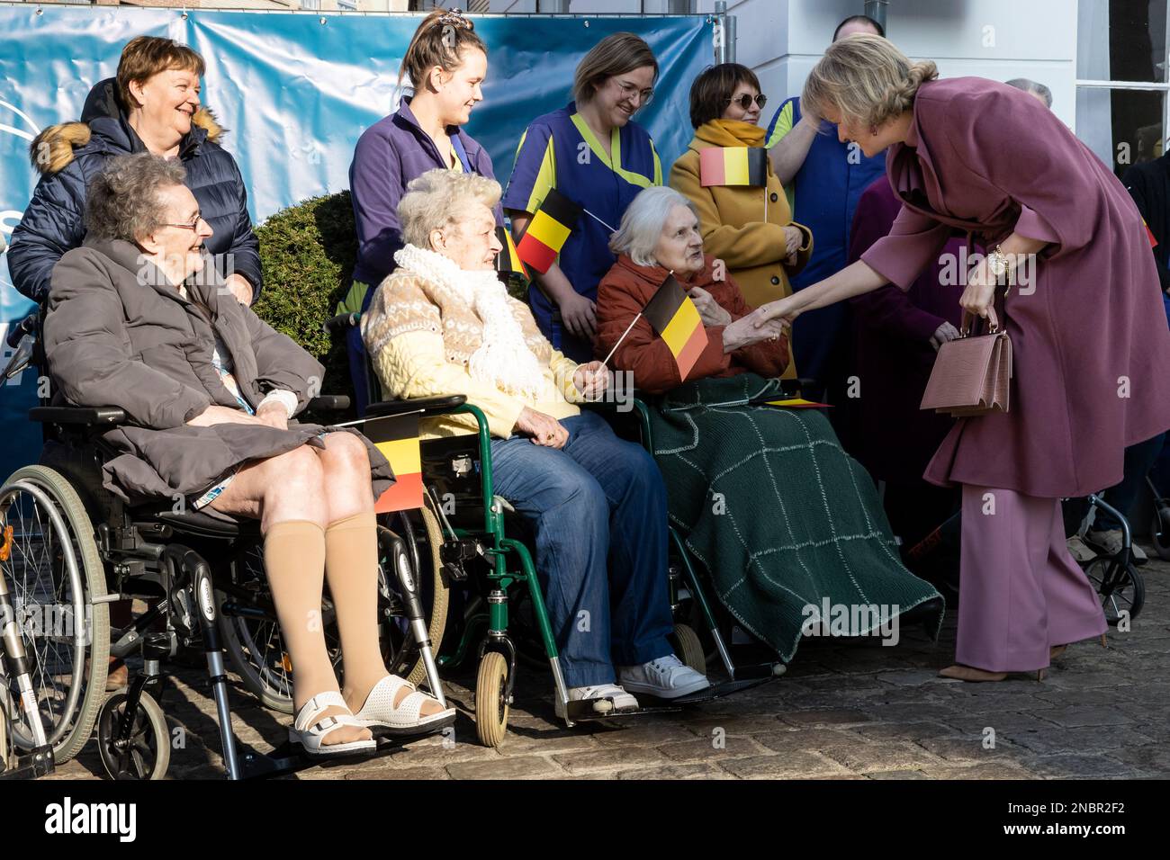
<path fill-rule="evenodd" d="M 8 248 L 8 271 L 22 296 L 39 304 L 48 297 L 53 267 L 85 236 L 84 213 L 85 177 L 76 160 L 36 184 Z"/>

